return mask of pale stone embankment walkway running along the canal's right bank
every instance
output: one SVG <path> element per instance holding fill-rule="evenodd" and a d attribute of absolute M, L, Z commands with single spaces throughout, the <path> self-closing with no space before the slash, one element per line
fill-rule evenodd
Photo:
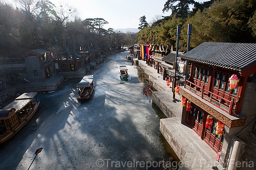
<path fill-rule="evenodd" d="M 161 74 L 147 66 L 146 61 L 131 57 L 131 61 L 144 70 L 144 74 L 155 90 L 152 101 L 160 108 L 167 118 L 160 119 L 159 130 L 168 144 L 180 159 L 179 169 L 223 169 L 217 162 L 217 154 L 187 124 L 181 121 L 181 97 L 173 95 L 171 88 L 166 86 Z M 175 100 L 173 98 L 175 97 Z M 184 119 L 184 118 L 182 118 Z"/>

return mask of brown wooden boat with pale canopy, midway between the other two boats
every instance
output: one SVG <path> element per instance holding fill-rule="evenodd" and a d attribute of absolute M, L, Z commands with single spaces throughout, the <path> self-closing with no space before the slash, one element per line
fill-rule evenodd
<path fill-rule="evenodd" d="M 77 100 L 88 100 L 94 90 L 93 75 L 85 75 L 77 84 L 77 88 L 79 90 Z"/>

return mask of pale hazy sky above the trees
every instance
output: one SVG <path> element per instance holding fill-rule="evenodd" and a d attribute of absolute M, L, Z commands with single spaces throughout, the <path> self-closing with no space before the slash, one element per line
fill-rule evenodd
<path fill-rule="evenodd" d="M 11 1 L 11 0 L 9 0 Z M 171 12 L 162 12 L 164 3 L 167 0 L 49 0 L 56 7 L 68 4 L 76 8 L 78 16 L 82 20 L 86 18 L 103 18 L 109 24 L 108 28 L 138 28 L 139 18 L 146 16 L 146 21 L 152 23 L 152 20 L 160 19 L 160 16 L 171 15 Z M 197 0 L 204 2 L 204 0 Z"/>

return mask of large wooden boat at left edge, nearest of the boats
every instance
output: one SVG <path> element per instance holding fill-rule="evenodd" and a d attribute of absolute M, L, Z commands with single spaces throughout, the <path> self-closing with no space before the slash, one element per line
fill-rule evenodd
<path fill-rule="evenodd" d="M 0 109 L 0 143 L 13 137 L 34 116 L 40 103 L 36 94 L 37 92 L 24 93 Z"/>

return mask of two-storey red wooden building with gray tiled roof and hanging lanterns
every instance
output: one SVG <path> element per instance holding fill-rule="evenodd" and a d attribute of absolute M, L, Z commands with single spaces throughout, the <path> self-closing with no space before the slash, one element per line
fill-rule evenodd
<path fill-rule="evenodd" d="M 204 42 L 180 58 L 191 63 L 191 76 L 179 90 L 186 101 L 181 123 L 217 153 L 223 167 L 233 169 L 231 158 L 245 152 L 234 146 L 255 128 L 256 44 Z"/>

